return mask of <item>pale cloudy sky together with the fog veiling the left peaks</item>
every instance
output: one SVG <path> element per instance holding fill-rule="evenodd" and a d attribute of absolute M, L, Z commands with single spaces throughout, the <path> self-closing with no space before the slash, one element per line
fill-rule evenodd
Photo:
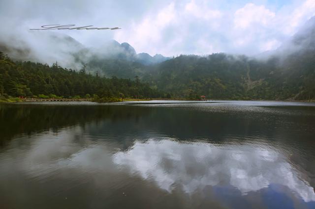
<path fill-rule="evenodd" d="M 0 51 L 17 60 L 75 69 L 91 57 L 134 58 L 113 40 L 151 56 L 225 52 L 265 59 L 314 43 L 308 39 L 315 22 L 308 20 L 314 15 L 315 0 L 1 1 Z M 121 29 L 30 30 L 49 24 Z"/>

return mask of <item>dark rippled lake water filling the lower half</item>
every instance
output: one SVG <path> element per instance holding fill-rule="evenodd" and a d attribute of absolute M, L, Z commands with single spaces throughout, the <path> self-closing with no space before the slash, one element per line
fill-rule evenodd
<path fill-rule="evenodd" d="M 0 209 L 315 209 L 314 188 L 312 103 L 0 105 Z"/>

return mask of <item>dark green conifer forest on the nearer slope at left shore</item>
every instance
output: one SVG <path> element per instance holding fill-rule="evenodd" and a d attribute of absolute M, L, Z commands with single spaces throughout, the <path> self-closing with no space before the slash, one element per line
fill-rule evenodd
<path fill-rule="evenodd" d="M 14 62 L 0 52 L 0 97 L 158 98 L 162 95 L 139 78 L 105 78 L 76 72 L 57 63 Z"/>

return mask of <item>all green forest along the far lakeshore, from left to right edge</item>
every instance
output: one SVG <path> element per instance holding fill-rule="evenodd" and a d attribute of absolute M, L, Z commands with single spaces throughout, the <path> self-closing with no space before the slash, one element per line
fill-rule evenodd
<path fill-rule="evenodd" d="M 264 61 L 225 53 L 180 55 L 150 66 L 126 60 L 107 61 L 98 62 L 103 68 L 96 68 L 97 71 L 87 71 L 85 66 L 75 71 L 57 63 L 48 66 L 15 62 L 0 52 L 0 96 L 315 99 L 314 51 L 293 53 L 285 59 L 271 56 Z M 104 70 L 111 78 L 101 76 Z M 127 78 L 121 78 L 123 75 Z"/>

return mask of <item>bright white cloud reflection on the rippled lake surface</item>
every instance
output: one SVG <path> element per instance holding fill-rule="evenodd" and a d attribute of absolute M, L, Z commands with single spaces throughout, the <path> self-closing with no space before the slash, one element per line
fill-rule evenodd
<path fill-rule="evenodd" d="M 315 201 L 313 188 L 288 159 L 267 146 L 213 145 L 175 140 L 136 141 L 113 156 L 114 163 L 168 192 L 180 186 L 192 194 L 205 186 L 231 185 L 246 195 L 271 184 L 287 186 L 305 202 Z"/>

